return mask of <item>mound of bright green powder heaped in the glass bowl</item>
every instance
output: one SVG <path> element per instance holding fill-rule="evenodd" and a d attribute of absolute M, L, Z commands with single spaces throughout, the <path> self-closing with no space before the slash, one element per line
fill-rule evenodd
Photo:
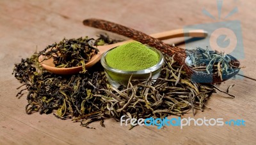
<path fill-rule="evenodd" d="M 159 55 L 138 41 L 116 47 L 106 55 L 110 67 L 122 71 L 139 71 L 155 66 Z"/>

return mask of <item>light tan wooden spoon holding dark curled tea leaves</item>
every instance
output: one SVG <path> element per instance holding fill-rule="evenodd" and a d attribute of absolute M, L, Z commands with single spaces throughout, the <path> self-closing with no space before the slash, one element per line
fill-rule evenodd
<path fill-rule="evenodd" d="M 189 32 L 184 33 L 183 29 L 175 29 L 172 31 L 159 32 L 156 34 L 152 34 L 150 36 L 157 38 L 157 39 L 162 39 L 162 40 L 170 39 L 170 38 L 184 37 L 184 36 L 205 38 L 207 36 L 207 32 L 205 32 L 204 30 L 195 30 L 195 31 L 189 31 Z M 112 45 L 95 46 L 99 49 L 99 52 L 97 53 L 97 55 L 94 55 L 89 62 L 87 62 L 85 64 L 85 67 L 86 68 L 92 67 L 94 64 L 96 64 L 100 60 L 100 57 L 102 56 L 102 54 L 104 52 L 107 52 L 111 48 L 114 48 L 114 47 L 120 46 L 120 45 L 124 45 L 125 43 L 129 43 L 131 41 L 134 41 L 134 40 L 129 39 L 127 41 L 122 41 L 120 43 L 115 43 Z M 39 60 L 40 64 L 42 65 L 42 67 L 44 67 L 49 72 L 53 72 L 55 74 L 75 74 L 79 71 L 82 71 L 82 66 L 69 67 L 69 68 L 55 67 L 53 64 L 53 59 L 44 60 L 44 58 L 45 58 L 44 55 L 40 55 L 40 57 L 38 57 L 38 60 Z"/>

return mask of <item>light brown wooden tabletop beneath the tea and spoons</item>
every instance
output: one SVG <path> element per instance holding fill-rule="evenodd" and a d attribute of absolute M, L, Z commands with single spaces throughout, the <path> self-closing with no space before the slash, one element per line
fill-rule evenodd
<path fill-rule="evenodd" d="M 52 114 L 25 113 L 26 95 L 15 97 L 20 83 L 12 76 L 13 64 L 33 52 L 65 38 L 93 37 L 99 30 L 84 27 L 85 18 L 103 18 L 147 34 L 182 28 L 185 25 L 216 22 L 202 14 L 217 16 L 216 1 L 0 1 L 0 144 L 256 144 L 255 1 L 223 2 L 223 15 L 235 6 L 239 12 L 230 20 L 241 20 L 247 78 L 226 81 L 236 85 L 230 93 L 214 93 L 207 103 L 211 109 L 196 111 L 195 118 L 243 119 L 245 127 L 120 127 L 109 119 L 88 129 L 59 120 Z M 115 38 L 120 38 L 120 36 Z M 169 41 L 170 42 L 170 41 Z M 192 117 L 191 113 L 184 118 Z"/>

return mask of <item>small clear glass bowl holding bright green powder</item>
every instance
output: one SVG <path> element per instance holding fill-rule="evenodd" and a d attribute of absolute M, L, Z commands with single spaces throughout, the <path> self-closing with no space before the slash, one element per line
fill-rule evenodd
<path fill-rule="evenodd" d="M 157 54 L 159 55 L 159 62 L 157 62 L 155 66 L 140 71 L 122 71 L 108 66 L 105 57 L 106 55 L 108 55 L 108 52 L 115 48 L 112 48 L 111 50 L 108 50 L 108 52 L 105 52 L 100 59 L 100 63 L 104 67 L 104 71 L 106 73 L 109 83 L 115 88 L 118 88 L 120 85 L 127 86 L 131 75 L 132 79 L 138 79 L 142 81 L 148 79 L 148 77 L 150 76 L 150 72 L 152 72 L 152 79 L 157 79 L 160 75 L 161 67 L 164 64 L 164 57 L 163 54 L 159 52 L 159 50 L 156 50 L 156 48 L 149 48 L 157 52 Z"/>

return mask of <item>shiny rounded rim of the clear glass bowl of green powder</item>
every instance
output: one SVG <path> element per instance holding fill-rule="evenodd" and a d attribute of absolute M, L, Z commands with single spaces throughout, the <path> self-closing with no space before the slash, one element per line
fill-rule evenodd
<path fill-rule="evenodd" d="M 111 72 L 115 72 L 115 73 L 119 73 L 119 74 L 148 74 L 150 72 L 154 72 L 154 71 L 157 71 L 160 67 L 163 66 L 164 64 L 164 56 L 163 54 L 157 50 L 156 48 L 153 48 L 153 47 L 150 47 L 150 46 L 147 46 L 148 48 L 154 50 L 158 55 L 159 55 L 159 61 L 157 62 L 156 65 L 152 66 L 152 67 L 149 67 L 147 69 L 142 69 L 142 70 L 139 70 L 139 71 L 123 71 L 123 70 L 120 70 L 120 69 L 115 69 L 113 67 L 110 67 L 108 66 L 106 60 L 105 60 L 105 57 L 106 55 L 108 54 L 108 52 L 110 52 L 111 50 L 115 49 L 115 48 L 111 48 L 110 50 L 108 50 L 107 52 L 104 52 L 102 57 L 100 58 L 100 63 L 102 64 L 102 66 L 104 67 L 104 69 L 107 69 L 108 71 L 111 71 Z"/>

